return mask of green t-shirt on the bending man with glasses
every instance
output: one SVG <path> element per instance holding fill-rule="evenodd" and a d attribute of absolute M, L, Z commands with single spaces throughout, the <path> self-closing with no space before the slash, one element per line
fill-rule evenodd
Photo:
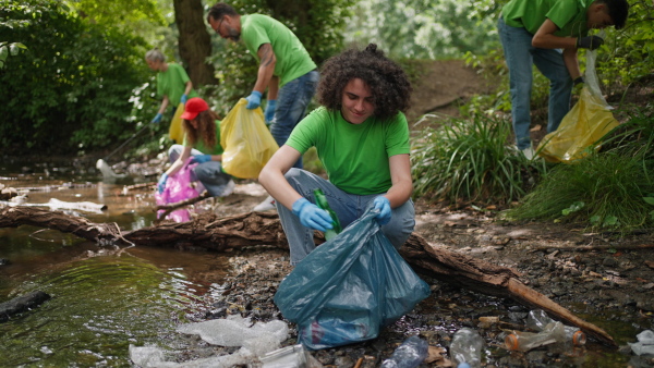
<path fill-rule="evenodd" d="M 241 37 L 245 47 L 258 61 L 257 51 L 264 44 L 272 46 L 277 58 L 275 75 L 279 87 L 316 69 L 308 52 L 291 29 L 277 20 L 262 14 L 241 16 Z"/>

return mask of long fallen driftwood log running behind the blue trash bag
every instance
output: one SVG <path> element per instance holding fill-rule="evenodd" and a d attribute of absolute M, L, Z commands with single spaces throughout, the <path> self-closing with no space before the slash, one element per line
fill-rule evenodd
<path fill-rule="evenodd" d="M 184 223 L 168 222 L 120 233 L 114 225 L 95 224 L 61 212 L 35 208 L 0 210 L 0 228 L 15 228 L 21 224 L 71 232 L 86 240 L 102 240 L 112 244 L 135 243 L 211 250 L 262 244 L 288 248 L 277 213 L 250 212 L 226 218 L 209 216 Z M 319 238 L 316 241 L 319 243 Z M 578 318 L 545 295 L 524 285 L 519 281 L 518 272 L 512 269 L 433 247 L 416 234 L 411 235 L 400 254 L 419 273 L 482 294 L 509 297 L 529 307 L 543 309 L 557 319 L 581 328 L 600 342 L 617 346 L 604 330 Z"/>

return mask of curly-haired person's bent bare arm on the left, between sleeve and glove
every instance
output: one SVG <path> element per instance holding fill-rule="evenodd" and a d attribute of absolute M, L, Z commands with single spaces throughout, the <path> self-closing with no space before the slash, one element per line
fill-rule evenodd
<path fill-rule="evenodd" d="M 283 175 L 300 157 L 299 150 L 283 145 L 272 155 L 258 176 L 259 183 L 268 191 L 268 194 L 290 210 L 293 209 L 295 200 L 302 198 L 302 196 L 293 189 Z"/>

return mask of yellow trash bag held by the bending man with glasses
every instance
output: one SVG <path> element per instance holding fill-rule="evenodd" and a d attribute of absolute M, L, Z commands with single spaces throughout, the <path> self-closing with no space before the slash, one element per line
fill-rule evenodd
<path fill-rule="evenodd" d="M 264 123 L 262 109 L 247 110 L 240 99 L 220 123 L 222 170 L 241 179 L 257 179 L 279 146 Z"/>

